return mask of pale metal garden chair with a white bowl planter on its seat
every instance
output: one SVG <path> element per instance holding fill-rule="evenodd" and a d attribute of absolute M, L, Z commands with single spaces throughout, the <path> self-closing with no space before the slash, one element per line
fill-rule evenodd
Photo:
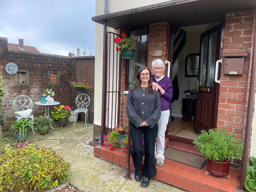
<path fill-rule="evenodd" d="M 15 109 L 15 112 L 19 110 L 19 107 L 27 107 L 28 109 L 31 109 L 33 107 L 33 102 L 27 95 L 19 95 L 15 97 L 13 100 L 13 108 Z M 20 121 L 20 119 L 30 118 L 34 122 L 34 115 L 30 114 L 29 116 L 19 116 L 16 115 L 15 118 Z M 34 130 L 32 129 L 33 134 L 36 134 Z"/>

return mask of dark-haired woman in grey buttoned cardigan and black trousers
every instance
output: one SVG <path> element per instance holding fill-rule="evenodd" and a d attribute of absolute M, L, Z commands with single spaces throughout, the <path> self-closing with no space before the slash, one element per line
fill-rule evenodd
<path fill-rule="evenodd" d="M 130 121 L 132 139 L 131 154 L 135 167 L 134 179 L 141 180 L 140 167 L 145 149 L 144 178 L 141 187 L 149 185 L 156 174 L 155 143 L 158 131 L 157 122 L 161 116 L 161 101 L 157 91 L 153 90 L 151 72 L 141 67 L 127 95 L 126 113 Z M 144 148 L 142 145 L 142 134 Z"/>

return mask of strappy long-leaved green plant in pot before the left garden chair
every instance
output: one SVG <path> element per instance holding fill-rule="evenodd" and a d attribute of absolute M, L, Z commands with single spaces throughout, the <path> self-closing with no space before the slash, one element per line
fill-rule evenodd
<path fill-rule="evenodd" d="M 12 126 L 8 132 L 14 131 L 15 137 L 18 141 L 23 141 L 27 138 L 28 132 L 34 130 L 34 122 L 28 118 L 21 119 L 20 121 L 12 121 Z"/>

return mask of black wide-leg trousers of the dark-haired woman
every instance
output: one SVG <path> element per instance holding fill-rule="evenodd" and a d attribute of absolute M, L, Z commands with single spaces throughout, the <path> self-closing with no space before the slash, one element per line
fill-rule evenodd
<path fill-rule="evenodd" d="M 144 149 L 145 160 L 143 175 L 149 178 L 156 175 L 155 143 L 157 132 L 157 124 L 152 129 L 149 126 L 142 126 L 137 128 L 130 121 L 130 133 L 132 139 L 132 146 L 130 152 L 132 154 L 132 161 L 135 167 L 136 175 L 138 175 L 140 172 Z M 142 144 L 142 134 L 144 140 L 144 147 Z"/>

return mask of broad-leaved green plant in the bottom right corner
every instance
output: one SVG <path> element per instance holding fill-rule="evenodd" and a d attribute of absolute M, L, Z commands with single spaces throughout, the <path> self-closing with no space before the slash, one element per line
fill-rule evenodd
<path fill-rule="evenodd" d="M 247 162 L 246 177 L 244 187 L 250 191 L 256 191 L 256 158 L 251 157 L 251 160 Z"/>

